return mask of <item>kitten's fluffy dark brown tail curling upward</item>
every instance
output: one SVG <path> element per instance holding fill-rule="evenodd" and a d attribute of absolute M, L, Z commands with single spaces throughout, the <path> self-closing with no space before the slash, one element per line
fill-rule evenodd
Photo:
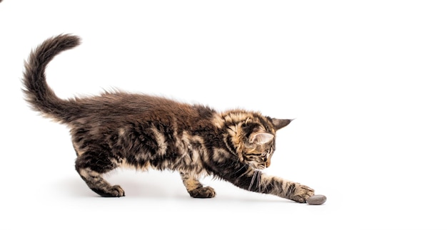
<path fill-rule="evenodd" d="M 74 48 L 81 43 L 78 36 L 61 34 L 46 39 L 31 51 L 24 70 L 24 93 L 26 101 L 34 110 L 59 122 L 69 120 L 69 101 L 58 98 L 46 83 L 46 65 L 59 53 Z"/>

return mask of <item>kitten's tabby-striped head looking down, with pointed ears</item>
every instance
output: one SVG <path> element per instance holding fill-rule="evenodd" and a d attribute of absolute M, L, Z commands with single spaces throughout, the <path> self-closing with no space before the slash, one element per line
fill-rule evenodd
<path fill-rule="evenodd" d="M 233 113 L 224 117 L 228 126 L 228 134 L 239 161 L 254 169 L 265 169 L 271 164 L 275 151 L 276 131 L 288 125 L 289 119 L 265 117 L 258 113 Z"/>

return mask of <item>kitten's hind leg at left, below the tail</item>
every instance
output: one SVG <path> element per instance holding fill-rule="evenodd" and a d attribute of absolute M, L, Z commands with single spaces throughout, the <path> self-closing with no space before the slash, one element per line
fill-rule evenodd
<path fill-rule="evenodd" d="M 101 197 L 124 197 L 124 190 L 119 185 L 111 185 L 103 178 L 103 174 L 119 167 L 110 157 L 104 152 L 84 152 L 76 159 L 76 171 Z"/>

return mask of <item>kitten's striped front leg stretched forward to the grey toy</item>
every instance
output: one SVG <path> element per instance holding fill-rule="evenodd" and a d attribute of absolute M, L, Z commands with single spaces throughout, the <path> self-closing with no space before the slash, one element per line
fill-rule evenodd
<path fill-rule="evenodd" d="M 299 203 L 305 203 L 306 199 L 314 194 L 313 189 L 306 185 L 290 182 L 280 177 L 268 176 L 251 168 L 231 182 L 248 191 L 272 194 Z"/>

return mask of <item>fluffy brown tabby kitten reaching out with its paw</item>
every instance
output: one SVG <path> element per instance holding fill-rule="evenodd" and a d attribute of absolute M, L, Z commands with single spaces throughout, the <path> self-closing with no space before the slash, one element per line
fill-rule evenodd
<path fill-rule="evenodd" d="M 24 93 L 34 110 L 68 125 L 76 171 L 97 194 L 124 196 L 124 190 L 109 184 L 103 174 L 134 167 L 178 171 L 191 197 L 216 195 L 199 182 L 204 175 L 296 202 L 313 195 L 309 187 L 261 172 L 270 165 L 276 131 L 291 120 L 245 110 L 218 113 L 203 105 L 124 92 L 58 98 L 46 83 L 46 65 L 79 43 L 79 37 L 62 34 L 32 51 L 25 63 Z"/>

